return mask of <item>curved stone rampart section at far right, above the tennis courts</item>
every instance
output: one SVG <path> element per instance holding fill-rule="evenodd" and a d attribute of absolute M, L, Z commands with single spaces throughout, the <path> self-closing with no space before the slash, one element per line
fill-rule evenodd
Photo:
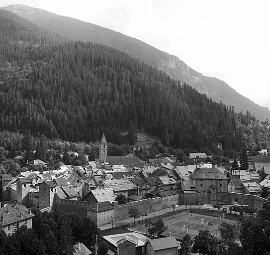
<path fill-rule="evenodd" d="M 217 192 L 217 201 L 225 204 L 233 204 L 237 202 L 238 204 L 249 205 L 254 209 L 261 209 L 262 203 L 267 201 L 267 199 L 242 193 Z"/>

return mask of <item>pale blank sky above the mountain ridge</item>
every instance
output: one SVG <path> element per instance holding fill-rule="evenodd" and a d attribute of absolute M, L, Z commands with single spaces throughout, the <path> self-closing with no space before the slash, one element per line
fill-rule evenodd
<path fill-rule="evenodd" d="M 140 39 L 270 107 L 269 0 L 0 0 L 18 3 Z"/>

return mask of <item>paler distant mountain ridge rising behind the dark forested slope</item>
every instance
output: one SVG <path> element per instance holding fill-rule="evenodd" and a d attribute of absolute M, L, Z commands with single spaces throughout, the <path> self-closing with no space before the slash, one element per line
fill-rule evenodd
<path fill-rule="evenodd" d="M 238 112 L 246 113 L 248 110 L 252 114 L 254 113 L 260 121 L 270 118 L 270 110 L 267 107 L 261 107 L 240 95 L 224 81 L 204 76 L 188 67 L 178 57 L 160 51 L 138 39 L 108 28 L 26 5 L 9 5 L 3 7 L 3 9 L 69 39 L 92 41 L 126 52 L 131 57 L 166 72 L 174 79 L 189 84 L 213 101 L 221 102 L 227 106 L 234 106 L 234 109 Z"/>

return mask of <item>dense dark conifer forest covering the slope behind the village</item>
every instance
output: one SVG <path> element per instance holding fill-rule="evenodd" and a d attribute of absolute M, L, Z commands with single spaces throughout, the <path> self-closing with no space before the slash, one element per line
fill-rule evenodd
<path fill-rule="evenodd" d="M 0 10 L 0 130 L 70 141 L 105 132 L 121 143 L 130 128 L 181 148 L 239 149 L 266 141 L 236 114 L 113 48 L 64 42 L 29 21 Z M 247 144 L 249 143 L 249 144 Z"/>

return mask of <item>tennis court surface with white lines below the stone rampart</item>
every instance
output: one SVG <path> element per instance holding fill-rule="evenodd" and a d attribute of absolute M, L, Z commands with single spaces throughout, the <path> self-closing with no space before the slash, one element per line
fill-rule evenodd
<path fill-rule="evenodd" d="M 212 235 L 219 238 L 218 227 L 223 221 L 235 223 L 233 220 L 225 220 L 223 216 L 212 217 L 201 214 L 187 213 L 171 220 L 165 220 L 167 231 L 163 234 L 182 238 L 188 234 L 193 238 L 200 230 L 209 230 Z"/>

